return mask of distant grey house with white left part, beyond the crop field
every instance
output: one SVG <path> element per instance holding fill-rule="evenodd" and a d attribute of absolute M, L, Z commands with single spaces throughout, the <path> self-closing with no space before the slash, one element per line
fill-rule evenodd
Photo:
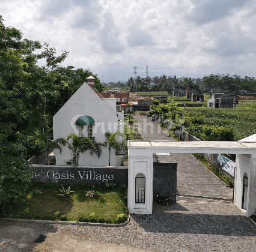
<path fill-rule="evenodd" d="M 238 103 L 238 97 L 234 93 L 216 93 L 207 99 L 207 107 L 218 108 L 233 108 Z"/>

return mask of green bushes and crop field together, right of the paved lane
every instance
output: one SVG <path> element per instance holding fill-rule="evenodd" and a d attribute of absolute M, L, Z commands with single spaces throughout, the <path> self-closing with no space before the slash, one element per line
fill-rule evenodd
<path fill-rule="evenodd" d="M 159 115 L 161 122 L 171 126 L 170 130 L 186 130 L 202 140 L 235 141 L 256 134 L 255 109 L 212 109 L 207 107 L 186 107 L 175 104 L 157 104 L 151 113 Z"/>

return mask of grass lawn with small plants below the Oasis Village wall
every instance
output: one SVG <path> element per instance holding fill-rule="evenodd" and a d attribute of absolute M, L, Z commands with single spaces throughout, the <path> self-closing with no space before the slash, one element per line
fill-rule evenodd
<path fill-rule="evenodd" d="M 8 203 L 4 217 L 115 223 L 117 215 L 124 214 L 127 220 L 126 186 L 121 188 L 111 183 L 72 185 L 72 197 L 58 196 L 61 186 L 52 182 L 33 183 L 25 196 Z M 68 187 L 69 184 L 64 183 L 64 188 Z M 88 190 L 93 191 L 92 198 L 85 196 Z"/>

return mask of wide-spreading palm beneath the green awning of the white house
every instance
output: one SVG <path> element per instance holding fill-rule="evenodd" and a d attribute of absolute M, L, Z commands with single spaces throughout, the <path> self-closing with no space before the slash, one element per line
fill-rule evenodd
<path fill-rule="evenodd" d="M 78 137 L 76 134 L 69 134 L 67 139 L 59 138 L 56 139 L 56 142 L 60 143 L 63 146 L 67 146 L 70 149 L 72 154 L 72 163 L 75 167 L 78 167 L 79 155 L 85 151 L 90 150 L 90 154 L 96 154 L 99 158 L 102 154 L 102 143 L 91 142 L 89 137 Z"/>

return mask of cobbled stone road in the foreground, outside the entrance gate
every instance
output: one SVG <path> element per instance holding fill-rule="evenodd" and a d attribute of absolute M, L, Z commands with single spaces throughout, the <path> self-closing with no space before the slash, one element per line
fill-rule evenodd
<path fill-rule="evenodd" d="M 48 236 L 33 244 L 38 234 Z M 255 251 L 256 228 L 231 203 L 154 205 L 124 227 L 0 221 L 0 251 Z"/>

